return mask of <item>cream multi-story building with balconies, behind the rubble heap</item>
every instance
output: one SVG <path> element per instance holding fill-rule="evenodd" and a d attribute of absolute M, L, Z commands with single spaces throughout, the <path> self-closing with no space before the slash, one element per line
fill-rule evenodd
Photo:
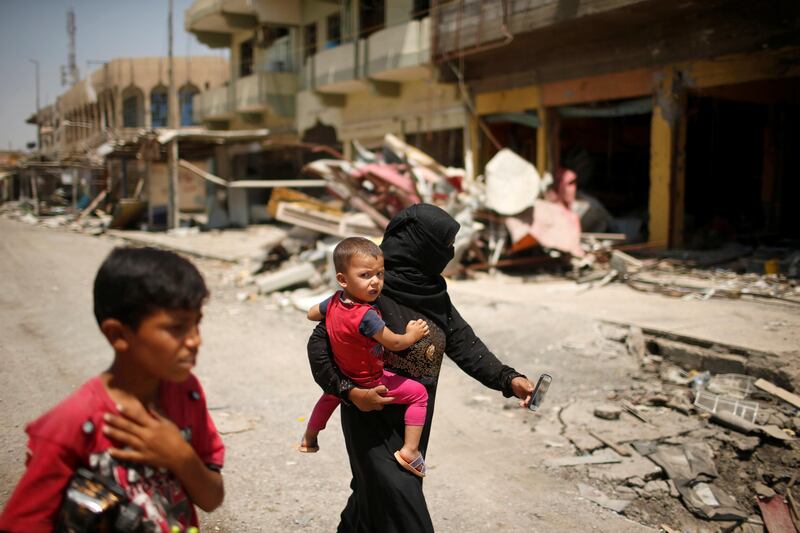
<path fill-rule="evenodd" d="M 231 50 L 231 84 L 197 97 L 198 118 L 286 138 L 380 145 L 393 133 L 463 164 L 467 126 L 454 84 L 430 62 L 429 2 L 197 0 L 186 29 Z"/>

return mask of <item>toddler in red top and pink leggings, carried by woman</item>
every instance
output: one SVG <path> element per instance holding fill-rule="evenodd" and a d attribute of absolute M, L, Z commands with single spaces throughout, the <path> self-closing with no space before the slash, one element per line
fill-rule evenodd
<path fill-rule="evenodd" d="M 395 452 L 397 462 L 423 477 L 425 460 L 419 451 L 428 407 L 428 391 L 421 383 L 383 368 L 384 347 L 405 350 L 428 334 L 424 320 L 412 320 L 403 334 L 391 331 L 372 303 L 383 289 L 383 252 L 372 241 L 350 237 L 333 250 L 336 281 L 342 288 L 308 311 L 309 320 L 325 320 L 334 361 L 339 370 L 360 387 L 384 385 L 392 403 L 408 405 L 403 447 Z M 300 443 L 301 452 L 319 450 L 317 436 L 339 406 L 339 398 L 323 394 L 314 406 Z"/>

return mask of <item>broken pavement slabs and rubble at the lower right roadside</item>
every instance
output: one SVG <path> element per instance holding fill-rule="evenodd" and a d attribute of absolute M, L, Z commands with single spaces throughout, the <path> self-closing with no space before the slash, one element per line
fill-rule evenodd
<path fill-rule="evenodd" d="M 611 340 L 639 361 L 633 383 L 559 408 L 574 454 L 543 466 L 664 531 L 800 531 L 800 396 L 754 375 L 686 370 L 650 353 L 638 328 Z M 775 525 L 787 518 L 792 529 Z"/>

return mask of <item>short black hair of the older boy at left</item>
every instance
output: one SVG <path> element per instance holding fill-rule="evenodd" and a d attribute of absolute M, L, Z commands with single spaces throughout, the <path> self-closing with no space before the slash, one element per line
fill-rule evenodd
<path fill-rule="evenodd" d="M 158 309 L 200 309 L 208 298 L 191 262 L 156 248 L 117 247 L 94 279 L 94 316 L 115 318 L 134 329 Z"/>

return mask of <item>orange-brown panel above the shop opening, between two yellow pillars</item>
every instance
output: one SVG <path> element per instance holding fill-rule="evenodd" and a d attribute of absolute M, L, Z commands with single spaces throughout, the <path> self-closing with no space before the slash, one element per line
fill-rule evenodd
<path fill-rule="evenodd" d="M 653 94 L 653 71 L 647 68 L 588 76 L 542 85 L 542 105 L 561 106 L 634 98 Z"/>

